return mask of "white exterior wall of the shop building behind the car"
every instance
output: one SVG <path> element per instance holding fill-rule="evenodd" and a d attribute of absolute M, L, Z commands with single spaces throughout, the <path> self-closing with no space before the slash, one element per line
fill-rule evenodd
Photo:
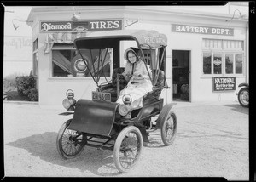
<path fill-rule="evenodd" d="M 39 35 L 39 71 L 38 71 L 38 88 L 39 88 L 39 103 L 40 105 L 60 105 L 62 100 L 66 97 L 67 89 L 73 89 L 75 93 L 75 99 L 90 99 L 91 91 L 96 90 L 96 85 L 90 77 L 50 77 L 51 71 L 51 54 L 44 54 L 44 41 L 46 33 L 39 33 L 39 21 L 40 20 L 69 20 L 73 14 L 72 9 L 67 11 L 65 8 L 55 8 L 55 11 L 51 12 L 51 9 L 41 9 L 42 12 L 37 12 L 33 15 L 36 20 L 36 24 L 32 25 L 33 40 Z M 82 7 L 80 8 L 82 9 Z M 101 7 L 102 9 L 102 7 Z M 40 11 L 41 11 L 40 10 Z M 67 12 L 65 12 L 65 10 Z M 171 89 L 166 89 L 162 92 L 161 97 L 165 98 L 165 103 L 172 102 L 172 50 L 189 50 L 190 51 L 190 101 L 223 101 L 223 100 L 236 100 L 236 91 L 229 92 L 212 92 L 212 77 L 202 77 L 202 38 L 212 39 L 232 39 L 242 40 L 247 43 L 247 20 L 234 20 L 226 22 L 230 19 L 231 15 L 228 13 L 229 9 L 225 8 L 218 14 L 212 16 L 206 15 L 209 12 L 201 13 L 198 15 L 191 15 L 184 10 L 180 12 L 176 9 L 174 13 L 163 12 L 158 9 L 147 8 L 145 11 L 141 11 L 139 7 L 136 9 L 127 7 L 125 10 L 119 7 L 114 7 L 102 10 L 102 14 L 98 14 L 95 11 L 96 8 L 92 7 L 89 10 L 88 7 L 81 11 L 79 14 L 81 17 L 86 17 L 83 20 L 105 20 L 105 19 L 123 19 L 124 26 L 126 20 L 137 20 L 138 22 L 127 26 L 126 29 L 145 29 L 155 30 L 160 33 L 166 34 L 168 38 L 168 46 L 166 47 L 166 79 Z M 153 12 L 152 12 L 152 11 Z M 167 11 L 162 9 L 163 11 Z M 219 10 L 219 9 L 218 9 Z M 218 11 L 217 11 L 218 12 Z M 54 19 L 53 19 L 54 17 Z M 227 27 L 234 28 L 234 36 L 216 36 L 216 35 L 204 35 L 193 33 L 179 33 L 172 32 L 172 24 L 183 24 L 191 26 L 214 26 L 214 27 Z M 120 52 L 120 65 L 125 65 L 123 60 L 123 51 L 125 48 L 130 47 L 128 44 L 121 46 Z M 246 47 L 247 48 L 247 47 Z M 247 55 L 247 49 L 244 54 Z M 245 56 L 245 64 L 247 65 L 247 56 Z M 245 68 L 246 69 L 246 68 Z M 246 82 L 246 74 L 241 77 L 236 77 L 236 90 L 240 82 Z M 102 79 L 102 82 L 105 82 Z"/>

